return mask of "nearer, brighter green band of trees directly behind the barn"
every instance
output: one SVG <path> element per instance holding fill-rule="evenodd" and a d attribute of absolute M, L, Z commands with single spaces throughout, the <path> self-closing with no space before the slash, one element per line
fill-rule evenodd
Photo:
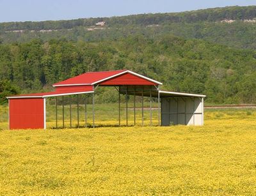
<path fill-rule="evenodd" d="M 0 44 L 2 96 L 15 91 L 46 91 L 54 82 L 80 73 L 118 69 L 159 80 L 164 83 L 163 89 L 207 94 L 207 102 L 254 103 L 256 99 L 253 50 L 172 35 Z"/>

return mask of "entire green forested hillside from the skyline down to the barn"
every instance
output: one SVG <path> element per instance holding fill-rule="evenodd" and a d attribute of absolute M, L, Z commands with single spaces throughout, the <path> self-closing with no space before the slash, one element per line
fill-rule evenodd
<path fill-rule="evenodd" d="M 0 24 L 0 103 L 118 69 L 207 94 L 211 103 L 255 103 L 256 6 Z"/>

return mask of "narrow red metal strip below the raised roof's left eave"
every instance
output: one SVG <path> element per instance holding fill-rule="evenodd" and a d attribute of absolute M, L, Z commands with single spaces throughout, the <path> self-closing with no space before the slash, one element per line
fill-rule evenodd
<path fill-rule="evenodd" d="M 93 86 L 56 86 L 56 93 L 76 93 L 76 92 L 85 92 L 93 91 Z"/>

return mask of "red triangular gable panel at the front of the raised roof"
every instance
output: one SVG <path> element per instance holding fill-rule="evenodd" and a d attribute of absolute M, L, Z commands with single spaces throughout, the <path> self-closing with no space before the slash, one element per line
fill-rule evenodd
<path fill-rule="evenodd" d="M 101 82 L 102 86 L 111 85 L 156 85 L 154 82 L 150 82 L 146 79 L 132 75 L 131 73 L 124 73 L 124 75 L 119 75 L 112 79 Z"/>

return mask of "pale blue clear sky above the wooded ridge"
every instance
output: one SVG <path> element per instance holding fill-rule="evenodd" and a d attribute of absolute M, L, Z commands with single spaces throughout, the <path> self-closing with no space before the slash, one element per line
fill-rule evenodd
<path fill-rule="evenodd" d="M 256 0 L 0 0 L 0 22 L 111 17 L 235 5 L 256 5 Z"/>

